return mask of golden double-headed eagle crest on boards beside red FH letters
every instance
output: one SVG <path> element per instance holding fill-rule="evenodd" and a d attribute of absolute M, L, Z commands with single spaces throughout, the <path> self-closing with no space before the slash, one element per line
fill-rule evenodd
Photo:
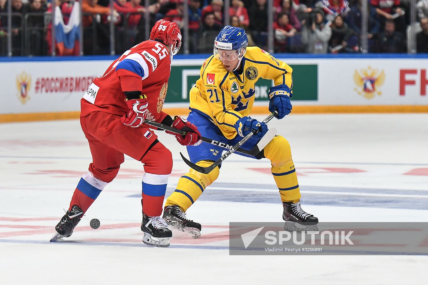
<path fill-rule="evenodd" d="M 364 96 L 366 99 L 373 99 L 376 95 L 382 95 L 379 88 L 385 83 L 385 71 L 382 69 L 372 68 L 369 66 L 367 69 L 356 69 L 354 72 L 354 82 L 358 88 L 354 88 L 359 95 Z"/>

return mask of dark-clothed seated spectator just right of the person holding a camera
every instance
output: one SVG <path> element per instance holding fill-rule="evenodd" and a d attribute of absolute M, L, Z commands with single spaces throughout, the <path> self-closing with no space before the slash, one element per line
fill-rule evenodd
<path fill-rule="evenodd" d="M 352 52 L 353 47 L 348 47 L 348 41 L 352 36 L 354 36 L 354 34 L 354 30 L 349 28 L 348 25 L 344 23 L 343 17 L 341 15 L 337 15 L 331 24 L 331 39 L 329 45 L 331 48 L 333 48 L 332 53 Z M 355 46 L 355 44 L 356 41 L 354 40 L 353 45 Z M 339 46 L 342 46 L 342 48 Z M 339 50 L 334 50 L 335 47 L 339 48 Z"/>

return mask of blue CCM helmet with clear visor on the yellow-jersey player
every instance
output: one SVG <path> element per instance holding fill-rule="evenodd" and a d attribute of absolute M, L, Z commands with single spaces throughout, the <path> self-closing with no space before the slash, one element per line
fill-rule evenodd
<path fill-rule="evenodd" d="M 214 56 L 218 56 L 220 60 L 223 60 L 223 56 L 226 56 L 226 60 L 239 59 L 239 62 L 241 62 L 247 51 L 247 45 L 247 33 L 245 33 L 244 29 L 226 26 L 214 40 Z M 219 54 L 219 50 L 225 52 Z M 227 52 L 228 50 L 231 52 Z"/>

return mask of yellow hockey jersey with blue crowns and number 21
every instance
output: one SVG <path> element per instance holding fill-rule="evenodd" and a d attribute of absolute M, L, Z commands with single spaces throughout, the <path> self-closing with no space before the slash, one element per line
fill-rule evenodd
<path fill-rule="evenodd" d="M 190 108 L 208 115 L 228 139 L 236 136 L 236 121 L 250 115 L 259 78 L 293 87 L 292 68 L 259 47 L 248 47 L 241 64 L 241 74 L 229 72 L 212 55 L 205 59 L 201 77 L 190 89 Z"/>

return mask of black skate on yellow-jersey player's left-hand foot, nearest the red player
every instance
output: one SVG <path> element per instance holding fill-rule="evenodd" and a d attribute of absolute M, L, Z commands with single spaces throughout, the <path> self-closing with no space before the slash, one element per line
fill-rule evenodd
<path fill-rule="evenodd" d="M 190 233 L 192 238 L 199 238 L 201 236 L 201 224 L 187 219 L 186 214 L 181 211 L 180 206 L 166 206 L 163 209 L 163 220 L 174 229 Z"/>

